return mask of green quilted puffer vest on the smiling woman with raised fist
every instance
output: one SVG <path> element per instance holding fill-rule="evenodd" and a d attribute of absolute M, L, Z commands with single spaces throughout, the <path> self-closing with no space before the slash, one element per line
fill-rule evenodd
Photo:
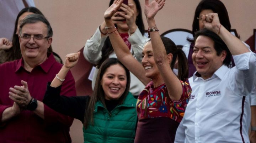
<path fill-rule="evenodd" d="M 88 125 L 84 131 L 84 143 L 133 143 L 137 123 L 136 102 L 132 93 L 128 93 L 122 105 L 111 113 L 96 102 L 94 126 Z"/>

